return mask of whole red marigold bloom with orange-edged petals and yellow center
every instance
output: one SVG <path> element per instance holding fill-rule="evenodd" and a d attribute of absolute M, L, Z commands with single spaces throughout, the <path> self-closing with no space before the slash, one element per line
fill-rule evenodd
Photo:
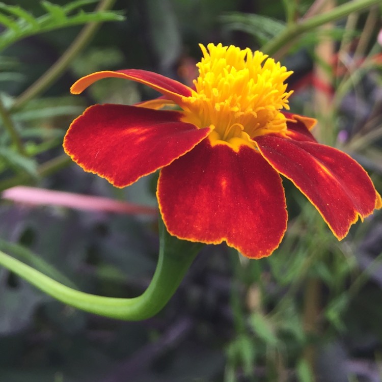
<path fill-rule="evenodd" d="M 317 143 L 309 131 L 314 119 L 282 111 L 289 108 L 284 81 L 290 71 L 260 51 L 200 46 L 195 89 L 137 69 L 80 78 L 74 94 L 101 78 L 119 77 L 162 97 L 135 106 L 90 106 L 71 124 L 65 151 L 117 187 L 161 169 L 156 194 L 169 233 L 225 241 L 250 258 L 270 255 L 286 231 L 280 175 L 309 199 L 338 239 L 382 206 L 356 161 Z M 181 111 L 159 110 L 166 104 Z"/>

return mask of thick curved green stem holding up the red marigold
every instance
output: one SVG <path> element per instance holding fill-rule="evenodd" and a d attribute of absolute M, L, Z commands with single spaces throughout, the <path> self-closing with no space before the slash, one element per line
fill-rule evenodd
<path fill-rule="evenodd" d="M 179 240 L 160 226 L 159 259 L 154 277 L 138 297 L 103 297 L 69 288 L 0 251 L 0 265 L 64 304 L 86 312 L 122 320 L 143 320 L 158 313 L 172 297 L 201 243 Z"/>

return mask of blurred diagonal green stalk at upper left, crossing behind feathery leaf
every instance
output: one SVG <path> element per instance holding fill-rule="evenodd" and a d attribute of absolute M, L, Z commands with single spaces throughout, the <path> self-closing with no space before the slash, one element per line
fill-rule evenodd
<path fill-rule="evenodd" d="M 96 11 L 106 11 L 111 9 L 115 1 L 116 0 L 101 0 L 96 8 Z M 65 53 L 60 57 L 60 59 L 54 63 L 54 65 L 38 80 L 36 80 L 34 84 L 32 84 L 19 97 L 16 98 L 12 105 L 11 111 L 19 109 L 26 102 L 30 101 L 32 98 L 35 98 L 47 89 L 49 85 L 66 70 L 77 54 L 90 42 L 100 24 L 101 22 L 91 22 L 86 25 Z"/>

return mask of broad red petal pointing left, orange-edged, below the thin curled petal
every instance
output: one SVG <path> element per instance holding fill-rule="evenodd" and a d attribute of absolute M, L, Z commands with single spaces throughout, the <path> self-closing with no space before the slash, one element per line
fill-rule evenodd
<path fill-rule="evenodd" d="M 70 125 L 64 149 L 85 171 L 124 187 L 169 165 L 209 133 L 182 114 L 126 105 L 94 105 Z"/>

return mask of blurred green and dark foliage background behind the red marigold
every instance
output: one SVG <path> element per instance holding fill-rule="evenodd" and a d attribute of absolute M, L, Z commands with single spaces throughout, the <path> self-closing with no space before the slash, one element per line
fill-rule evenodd
<path fill-rule="evenodd" d="M 86 105 L 131 104 L 155 94 L 107 80 L 79 97 L 69 95 L 70 85 L 95 70 L 131 67 L 186 82 L 184 69 L 200 57 L 198 43 L 260 48 L 319 2 L 106 3 L 101 10 L 93 0 L 0 4 L 1 190 L 34 184 L 155 205 L 155 176 L 114 189 L 72 165 L 61 148 Z M 356 158 L 380 192 L 382 56 L 375 15 L 380 6 L 304 34 L 277 55 L 294 71 L 292 110 L 315 115 L 321 142 Z M 95 22 L 106 23 L 86 34 Z M 329 63 L 316 50 L 328 41 Z M 327 78 L 323 110 L 317 93 Z M 380 380 L 381 214 L 338 242 L 298 190 L 284 185 L 288 232 L 272 256 L 248 261 L 224 245 L 206 247 L 169 306 L 144 322 L 75 311 L 0 269 L 0 381 Z M 1 250 L 81 290 L 134 296 L 155 268 L 157 227 L 150 218 L 6 200 L 0 215 Z"/>

